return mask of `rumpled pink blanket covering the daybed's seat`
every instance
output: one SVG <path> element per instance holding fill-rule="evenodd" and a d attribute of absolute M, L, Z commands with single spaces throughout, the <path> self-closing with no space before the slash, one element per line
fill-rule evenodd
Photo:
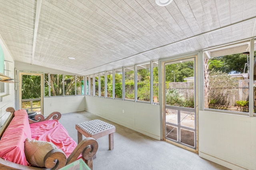
<path fill-rule="evenodd" d="M 54 143 L 58 149 L 63 150 L 67 158 L 77 146 L 76 141 L 57 120 L 32 123 L 30 129 L 32 139 Z"/>

